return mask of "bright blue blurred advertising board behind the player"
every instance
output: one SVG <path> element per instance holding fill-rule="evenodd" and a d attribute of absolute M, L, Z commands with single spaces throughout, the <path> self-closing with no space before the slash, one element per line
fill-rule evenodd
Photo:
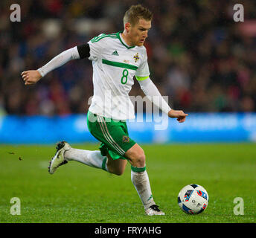
<path fill-rule="evenodd" d="M 130 137 L 138 143 L 200 143 L 256 141 L 256 113 L 189 113 L 185 123 L 171 118 L 137 115 L 128 121 Z M 0 117 L 1 144 L 97 142 L 86 115 Z"/>

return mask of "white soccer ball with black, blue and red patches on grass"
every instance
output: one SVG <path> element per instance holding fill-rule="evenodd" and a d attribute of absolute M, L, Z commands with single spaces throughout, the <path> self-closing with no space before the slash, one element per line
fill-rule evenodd
<path fill-rule="evenodd" d="M 178 195 L 179 208 L 188 214 L 202 213 L 207 208 L 208 201 L 208 193 L 198 184 L 183 187 Z"/>

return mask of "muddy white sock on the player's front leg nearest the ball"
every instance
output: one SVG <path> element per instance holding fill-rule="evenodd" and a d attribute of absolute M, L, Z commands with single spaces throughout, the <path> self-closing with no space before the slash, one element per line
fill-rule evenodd
<path fill-rule="evenodd" d="M 143 172 L 135 172 L 131 170 L 131 179 L 145 210 L 151 205 L 155 205 L 156 203 L 153 200 L 150 188 L 150 179 L 148 178 L 147 171 L 144 170 Z"/>

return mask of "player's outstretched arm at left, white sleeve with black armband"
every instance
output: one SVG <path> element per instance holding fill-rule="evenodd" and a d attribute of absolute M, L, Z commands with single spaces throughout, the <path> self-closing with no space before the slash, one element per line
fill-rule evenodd
<path fill-rule="evenodd" d="M 25 85 L 32 85 L 38 82 L 42 77 L 48 74 L 50 71 L 53 71 L 55 68 L 59 68 L 61 65 L 64 65 L 70 60 L 83 59 L 90 56 L 90 48 L 88 44 L 78 45 L 74 48 L 70 48 L 66 51 L 63 51 L 61 54 L 58 54 L 57 57 L 54 57 L 46 65 L 38 68 L 37 70 L 29 70 L 22 72 L 22 78 L 25 82 Z"/>

